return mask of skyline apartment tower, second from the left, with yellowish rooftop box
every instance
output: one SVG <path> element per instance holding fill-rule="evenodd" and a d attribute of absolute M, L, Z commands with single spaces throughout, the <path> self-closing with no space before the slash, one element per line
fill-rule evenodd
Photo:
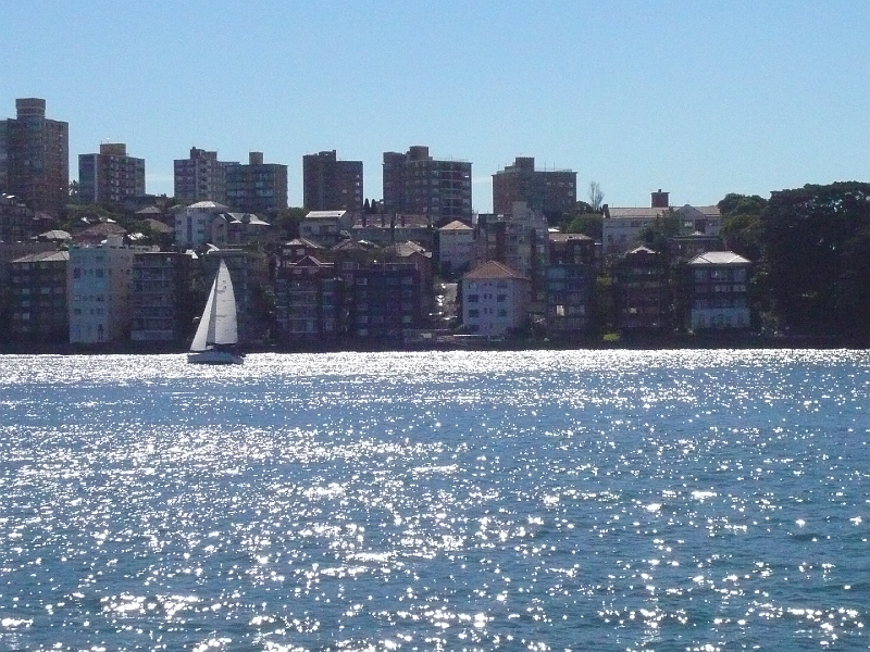
<path fill-rule="evenodd" d="M 99 153 L 78 155 L 78 199 L 84 203 L 120 205 L 144 195 L 145 159 L 128 156 L 123 142 L 103 142 Z"/>

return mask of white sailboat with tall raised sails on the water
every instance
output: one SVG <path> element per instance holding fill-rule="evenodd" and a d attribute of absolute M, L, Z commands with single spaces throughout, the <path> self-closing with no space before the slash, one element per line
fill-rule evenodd
<path fill-rule="evenodd" d="M 229 269 L 221 260 L 214 283 L 211 285 L 206 310 L 199 321 L 197 334 L 190 343 L 187 362 L 194 364 L 241 364 L 244 358 L 236 352 L 238 317 L 236 296 Z"/>

